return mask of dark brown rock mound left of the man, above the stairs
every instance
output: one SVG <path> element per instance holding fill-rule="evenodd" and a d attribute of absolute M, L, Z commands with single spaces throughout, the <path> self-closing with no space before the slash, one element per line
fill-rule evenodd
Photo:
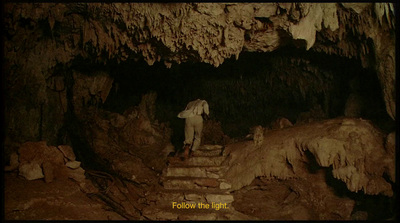
<path fill-rule="evenodd" d="M 171 130 L 156 120 L 151 100 L 154 96 L 143 95 L 141 106 L 127 109 L 124 124 L 116 122 L 119 114 L 102 109 L 89 109 L 81 117 L 85 123 L 85 136 L 93 141 L 91 149 L 101 159 L 111 164 L 115 172 L 126 179 L 153 181 L 156 171 L 161 171 L 173 149 L 170 142 Z M 114 121 L 112 121 L 114 120 Z M 148 183 L 148 182 L 147 182 Z"/>

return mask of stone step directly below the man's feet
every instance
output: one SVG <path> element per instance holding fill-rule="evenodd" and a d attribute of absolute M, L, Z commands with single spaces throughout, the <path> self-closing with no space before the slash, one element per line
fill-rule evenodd
<path fill-rule="evenodd" d="M 170 166 L 220 166 L 225 158 L 224 156 L 198 156 L 183 161 L 179 157 L 169 157 L 168 163 Z"/>

